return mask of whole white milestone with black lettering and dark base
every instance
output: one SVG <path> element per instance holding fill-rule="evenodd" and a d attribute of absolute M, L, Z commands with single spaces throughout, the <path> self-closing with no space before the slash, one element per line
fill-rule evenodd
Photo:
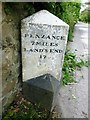
<path fill-rule="evenodd" d="M 21 27 L 23 94 L 51 110 L 60 85 L 69 26 L 41 10 L 23 19 Z"/>

